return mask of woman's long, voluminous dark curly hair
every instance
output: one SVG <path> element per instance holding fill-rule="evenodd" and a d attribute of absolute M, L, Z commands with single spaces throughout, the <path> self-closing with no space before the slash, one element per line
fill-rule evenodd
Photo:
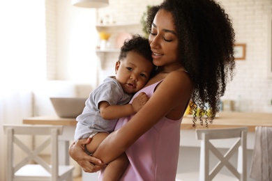
<path fill-rule="evenodd" d="M 194 126 L 197 107 L 208 116 L 205 104 L 211 109 L 208 117 L 212 123 L 219 111 L 220 97 L 225 93 L 227 81 L 234 76 L 235 34 L 232 22 L 225 10 L 213 0 L 165 0 L 148 12 L 146 29 L 149 33 L 160 9 L 172 13 L 179 39 L 180 62 L 192 79 L 194 104 L 190 104 L 190 108 L 194 112 Z M 201 117 L 200 123 L 203 125 Z"/>

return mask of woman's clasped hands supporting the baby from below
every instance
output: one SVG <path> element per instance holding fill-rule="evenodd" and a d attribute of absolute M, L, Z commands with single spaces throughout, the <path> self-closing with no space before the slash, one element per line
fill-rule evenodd
<path fill-rule="evenodd" d="M 105 167 L 100 159 L 91 157 L 84 151 L 84 145 L 91 142 L 91 139 L 80 139 L 77 143 L 72 143 L 69 147 L 69 155 L 77 164 L 79 164 L 84 172 L 97 172 L 101 168 Z"/>

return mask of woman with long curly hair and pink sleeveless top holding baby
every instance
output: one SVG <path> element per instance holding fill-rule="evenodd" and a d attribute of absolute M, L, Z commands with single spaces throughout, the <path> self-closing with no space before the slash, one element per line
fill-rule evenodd
<path fill-rule="evenodd" d="M 135 116 L 119 119 L 93 157 L 80 148 L 86 140 L 70 146 L 70 156 L 84 171 L 98 171 L 98 165 L 126 151 L 130 165 L 122 180 L 175 180 L 188 102 L 204 110 L 209 104 L 211 121 L 218 111 L 234 70 L 234 31 L 225 10 L 211 0 L 165 0 L 149 10 L 147 28 L 158 72 L 139 93 L 150 99 Z M 100 180 L 103 169 L 101 173 Z"/>

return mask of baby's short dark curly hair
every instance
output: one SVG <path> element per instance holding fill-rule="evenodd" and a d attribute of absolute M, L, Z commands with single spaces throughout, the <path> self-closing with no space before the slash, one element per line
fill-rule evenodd
<path fill-rule="evenodd" d="M 152 52 L 149 45 L 149 39 L 143 38 L 139 35 L 134 35 L 133 38 L 123 42 L 121 52 L 119 54 L 119 61 L 126 58 L 128 52 L 133 51 L 144 56 L 147 60 L 153 62 Z"/>

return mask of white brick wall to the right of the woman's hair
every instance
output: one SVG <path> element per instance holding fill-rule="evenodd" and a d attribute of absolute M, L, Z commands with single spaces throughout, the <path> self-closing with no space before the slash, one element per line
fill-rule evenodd
<path fill-rule="evenodd" d="M 272 1 L 220 2 L 233 19 L 236 42 L 246 44 L 245 61 L 236 61 L 236 76 L 223 99 L 241 97 L 242 111 L 272 112 L 272 79 L 266 72 L 269 61 L 267 19 L 272 14 Z"/>

